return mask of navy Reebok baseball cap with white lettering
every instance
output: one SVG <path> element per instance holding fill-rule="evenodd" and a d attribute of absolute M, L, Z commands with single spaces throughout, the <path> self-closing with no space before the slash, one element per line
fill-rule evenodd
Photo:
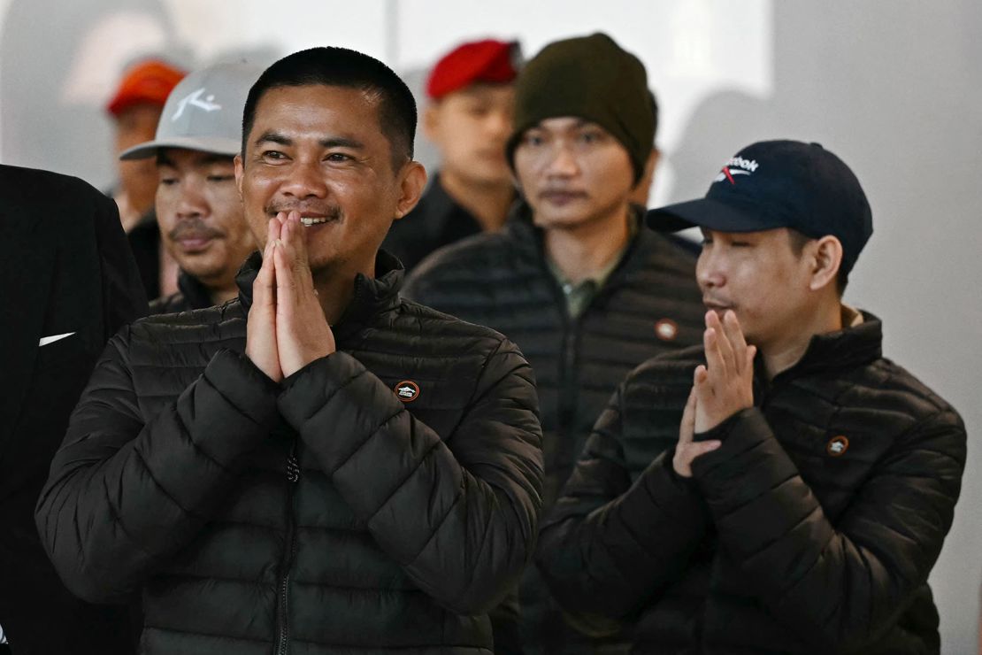
<path fill-rule="evenodd" d="M 706 195 L 647 213 L 661 232 L 702 227 L 719 232 L 791 228 L 806 237 L 832 235 L 852 269 L 873 234 L 866 193 L 846 163 L 818 143 L 758 141 L 730 158 Z"/>

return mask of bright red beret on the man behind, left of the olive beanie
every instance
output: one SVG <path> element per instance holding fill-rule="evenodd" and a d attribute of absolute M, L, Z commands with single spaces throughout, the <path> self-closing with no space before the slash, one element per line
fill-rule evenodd
<path fill-rule="evenodd" d="M 512 82 L 520 56 L 517 41 L 489 38 L 459 45 L 433 67 L 426 94 L 438 100 L 473 82 Z"/>

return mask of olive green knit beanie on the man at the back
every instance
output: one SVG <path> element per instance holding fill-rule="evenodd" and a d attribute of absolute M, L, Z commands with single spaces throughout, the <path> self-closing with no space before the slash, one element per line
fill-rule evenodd
<path fill-rule="evenodd" d="M 518 74 L 515 131 L 508 161 L 522 134 L 547 118 L 575 116 L 604 128 L 627 149 L 634 182 L 641 179 L 655 139 L 655 117 L 644 65 L 607 34 L 550 43 Z"/>

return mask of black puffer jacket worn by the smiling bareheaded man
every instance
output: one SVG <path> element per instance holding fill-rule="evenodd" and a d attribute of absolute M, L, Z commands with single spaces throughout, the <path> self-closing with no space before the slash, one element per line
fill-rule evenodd
<path fill-rule="evenodd" d="M 338 352 L 284 381 L 240 300 L 115 337 L 37 509 L 68 586 L 142 587 L 144 653 L 488 653 L 530 557 L 540 429 L 501 335 L 400 300 L 380 253 Z"/>

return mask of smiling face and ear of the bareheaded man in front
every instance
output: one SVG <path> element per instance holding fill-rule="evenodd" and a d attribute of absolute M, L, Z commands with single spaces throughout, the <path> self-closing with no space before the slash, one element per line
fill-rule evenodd
<path fill-rule="evenodd" d="M 246 151 L 236 158 L 236 179 L 260 246 L 270 219 L 297 210 L 310 223 L 310 269 L 354 275 L 374 270 L 378 246 L 393 219 L 415 204 L 425 174 L 409 161 L 394 170 L 377 97 L 308 84 L 263 93 Z"/>

